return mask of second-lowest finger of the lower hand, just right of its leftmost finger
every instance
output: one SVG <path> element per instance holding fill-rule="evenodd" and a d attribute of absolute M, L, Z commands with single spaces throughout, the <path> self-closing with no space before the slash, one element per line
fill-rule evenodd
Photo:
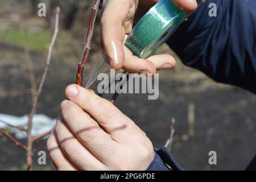
<path fill-rule="evenodd" d="M 105 168 L 104 164 L 73 136 L 60 119 L 56 124 L 56 137 L 65 156 L 78 168 L 87 171 L 103 170 Z"/>

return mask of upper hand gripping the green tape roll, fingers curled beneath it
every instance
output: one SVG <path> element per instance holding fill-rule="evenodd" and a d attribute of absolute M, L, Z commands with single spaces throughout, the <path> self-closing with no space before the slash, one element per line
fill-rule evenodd
<path fill-rule="evenodd" d="M 183 11 L 194 11 L 196 0 L 170 0 Z M 101 18 L 102 44 L 114 69 L 125 69 L 131 73 L 154 73 L 158 69 L 171 69 L 175 59 L 170 55 L 154 55 L 147 59 L 139 59 L 123 45 L 125 38 L 133 29 L 133 19 L 138 3 L 147 7 L 158 0 L 110 0 L 106 4 Z"/>

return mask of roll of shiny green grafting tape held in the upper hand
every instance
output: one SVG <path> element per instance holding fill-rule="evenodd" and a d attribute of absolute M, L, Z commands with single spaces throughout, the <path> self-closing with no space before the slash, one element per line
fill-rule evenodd
<path fill-rule="evenodd" d="M 135 56 L 147 58 L 170 38 L 186 15 L 171 0 L 156 3 L 133 28 L 125 46 Z"/>

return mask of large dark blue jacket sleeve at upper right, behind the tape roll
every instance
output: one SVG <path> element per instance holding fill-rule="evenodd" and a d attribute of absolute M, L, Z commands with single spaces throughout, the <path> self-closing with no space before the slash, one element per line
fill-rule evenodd
<path fill-rule="evenodd" d="M 208 14 L 210 3 L 216 17 Z M 255 7 L 255 0 L 208 0 L 167 43 L 185 65 L 256 93 Z"/>

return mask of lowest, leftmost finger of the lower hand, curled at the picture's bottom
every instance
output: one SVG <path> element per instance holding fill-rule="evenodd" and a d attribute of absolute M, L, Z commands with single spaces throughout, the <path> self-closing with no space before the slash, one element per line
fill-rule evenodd
<path fill-rule="evenodd" d="M 57 143 L 55 135 L 51 135 L 47 140 L 47 151 L 54 166 L 59 171 L 75 171 L 77 168 L 69 162 L 63 152 L 60 150 L 60 146 Z"/>

